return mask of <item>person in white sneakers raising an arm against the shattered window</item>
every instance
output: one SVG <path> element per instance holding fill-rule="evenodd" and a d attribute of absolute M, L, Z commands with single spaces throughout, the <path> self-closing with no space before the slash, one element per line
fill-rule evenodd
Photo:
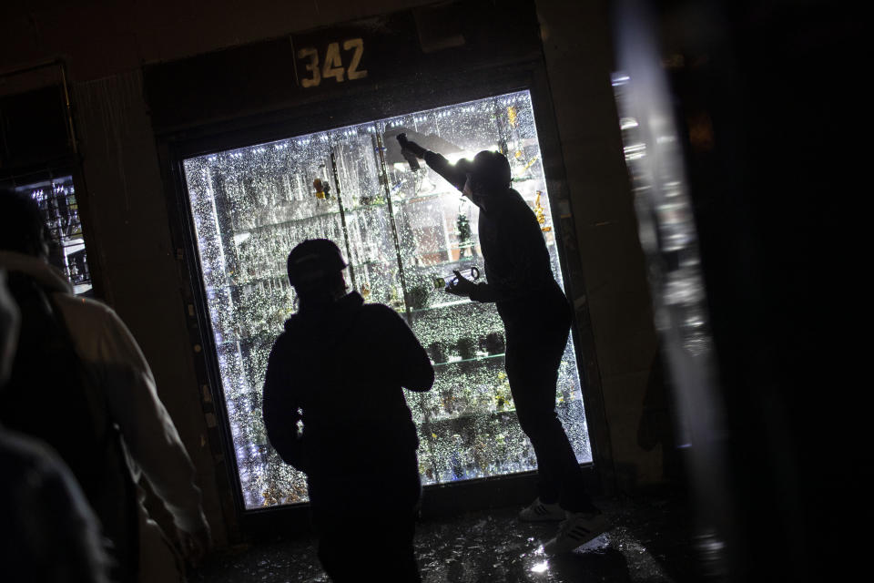
<path fill-rule="evenodd" d="M 555 385 L 573 312 L 550 266 L 543 232 L 522 196 L 510 188 L 503 154 L 483 150 L 473 162 L 452 165 L 441 154 L 400 134 L 401 149 L 422 158 L 480 209 L 479 239 L 487 282 L 455 271 L 446 291 L 476 302 L 494 302 L 506 332 L 505 366 L 519 424 L 537 456 L 538 497 L 524 521 L 562 520 L 544 550 L 573 550 L 605 531 L 605 515 L 584 486 L 564 427 L 555 413 Z"/>

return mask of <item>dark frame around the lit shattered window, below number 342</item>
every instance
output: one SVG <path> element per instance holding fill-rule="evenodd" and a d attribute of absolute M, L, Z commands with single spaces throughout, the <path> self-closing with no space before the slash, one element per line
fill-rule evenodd
<path fill-rule="evenodd" d="M 228 486 L 233 497 L 235 517 L 247 534 L 289 532 L 307 527 L 308 505 L 291 505 L 246 509 L 239 484 L 236 456 L 229 435 L 224 408 L 218 359 L 213 345 L 206 294 L 198 261 L 193 219 L 188 211 L 182 161 L 230 148 L 243 148 L 281 138 L 342 128 L 372 119 L 391 118 L 413 111 L 442 107 L 492 97 L 513 91 L 531 92 L 534 118 L 544 163 L 544 175 L 556 227 L 559 261 L 565 275 L 570 298 L 585 295 L 582 267 L 577 254 L 574 214 L 565 180 L 564 159 L 552 107 L 543 59 L 495 66 L 467 73 L 423 75 L 401 79 L 390 86 L 371 87 L 351 92 L 349 96 L 328 96 L 305 102 L 288 103 L 279 110 L 239 118 L 201 123 L 187 128 L 158 133 L 158 156 L 165 181 L 168 215 L 174 247 L 184 260 L 188 281 L 184 289 L 191 292 L 188 304 L 189 332 L 195 346 L 198 384 L 209 387 L 205 413 L 219 418 L 210 426 L 210 437 L 220 447 L 213 453 L 227 469 Z M 187 300 L 188 302 L 188 300 Z M 609 435 L 605 421 L 600 373 L 595 358 L 595 340 L 589 325 L 587 304 L 576 306 L 572 328 L 582 389 L 586 424 L 593 463 L 585 465 L 586 477 L 594 491 L 601 491 L 613 481 Z M 206 397 L 207 395 L 204 395 Z M 204 399 L 206 401 L 206 398 Z M 527 502 L 534 492 L 534 472 L 513 476 L 494 476 L 461 483 L 425 486 L 423 514 L 438 515 L 476 507 L 501 506 Z M 223 480 L 224 481 L 224 480 Z"/>

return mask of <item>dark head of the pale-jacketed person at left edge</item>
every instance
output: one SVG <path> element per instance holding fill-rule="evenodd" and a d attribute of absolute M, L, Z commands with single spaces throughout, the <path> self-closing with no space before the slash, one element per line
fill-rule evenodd
<path fill-rule="evenodd" d="M 48 258 L 51 237 L 36 200 L 0 190 L 0 251 Z"/>

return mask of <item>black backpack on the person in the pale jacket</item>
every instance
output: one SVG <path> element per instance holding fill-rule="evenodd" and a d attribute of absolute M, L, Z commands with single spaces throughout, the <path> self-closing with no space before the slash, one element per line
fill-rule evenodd
<path fill-rule="evenodd" d="M 66 324 L 46 293 L 23 273 L 8 287 L 21 312 L 0 422 L 51 445 L 69 466 L 100 519 L 114 580 L 133 580 L 138 562 L 136 486 L 104 391 L 82 363 Z"/>

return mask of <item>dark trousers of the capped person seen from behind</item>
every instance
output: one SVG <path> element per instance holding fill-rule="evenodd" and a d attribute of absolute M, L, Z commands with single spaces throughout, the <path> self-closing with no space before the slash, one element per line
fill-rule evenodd
<path fill-rule="evenodd" d="M 381 471 L 309 479 L 319 560 L 333 581 L 422 581 L 412 545 L 422 495 L 412 461 Z"/>

